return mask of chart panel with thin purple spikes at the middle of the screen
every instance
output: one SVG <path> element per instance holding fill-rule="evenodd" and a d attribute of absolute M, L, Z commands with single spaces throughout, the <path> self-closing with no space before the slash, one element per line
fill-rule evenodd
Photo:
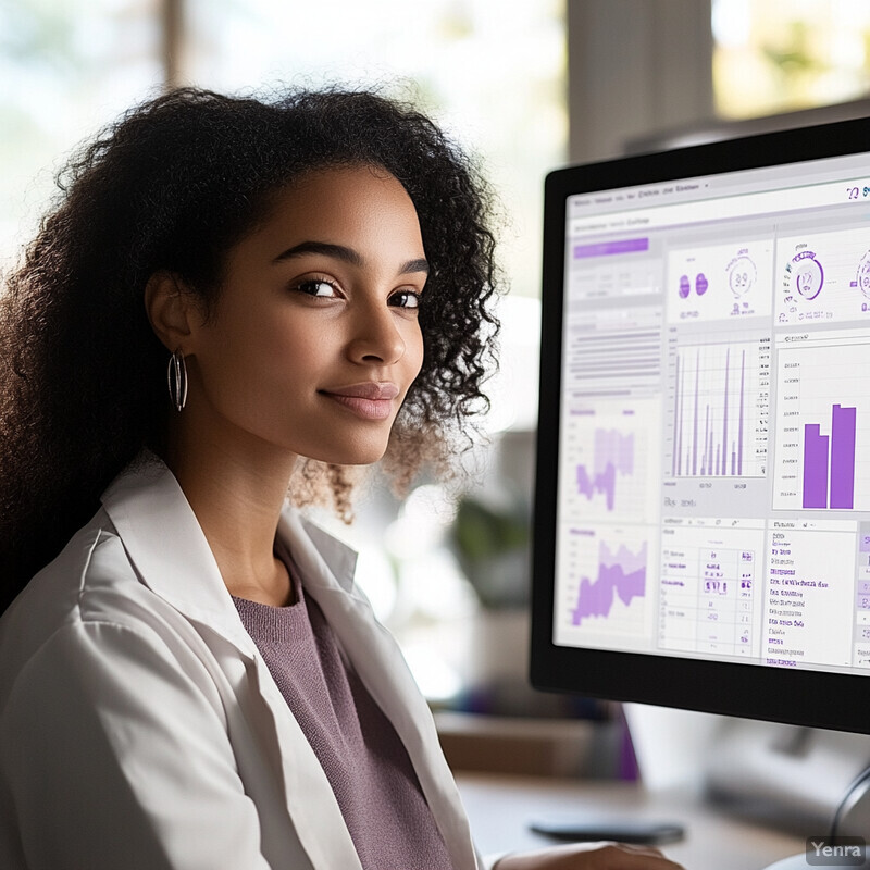
<path fill-rule="evenodd" d="M 763 477 L 770 344 L 684 345 L 671 365 L 672 477 Z"/>

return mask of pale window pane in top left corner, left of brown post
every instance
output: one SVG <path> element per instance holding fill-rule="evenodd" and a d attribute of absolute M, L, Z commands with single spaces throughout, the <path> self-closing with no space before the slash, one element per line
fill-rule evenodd
<path fill-rule="evenodd" d="M 0 266 L 35 233 L 85 136 L 163 83 L 158 0 L 0 5 Z"/>

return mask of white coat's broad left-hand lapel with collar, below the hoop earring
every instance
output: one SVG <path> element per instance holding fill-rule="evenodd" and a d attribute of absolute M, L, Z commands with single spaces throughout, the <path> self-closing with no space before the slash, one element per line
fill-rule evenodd
<path fill-rule="evenodd" d="M 141 462 L 142 457 L 147 461 Z M 200 626 L 226 679 L 238 687 L 247 675 L 254 675 L 269 710 L 266 733 L 282 768 L 287 812 L 312 866 L 361 870 L 326 774 L 245 630 L 175 476 L 153 455 L 140 455 L 136 465 L 103 493 L 102 502 L 141 581 Z M 229 642 L 235 651 L 227 655 L 226 645 L 216 644 L 212 633 Z M 237 706 L 236 698 L 227 699 L 231 723 L 238 716 Z M 262 733 L 259 704 L 243 717 L 250 731 Z"/>

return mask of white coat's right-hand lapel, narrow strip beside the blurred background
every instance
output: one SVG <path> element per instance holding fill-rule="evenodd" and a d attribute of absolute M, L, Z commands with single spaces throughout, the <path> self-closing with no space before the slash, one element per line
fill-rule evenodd
<path fill-rule="evenodd" d="M 349 588 L 352 551 L 293 509 L 282 513 L 278 536 L 288 545 L 306 593 L 316 600 L 353 669 L 408 749 L 452 866 L 474 870 L 477 860 L 468 819 L 430 709 L 396 642 L 375 620 L 369 602 Z"/>

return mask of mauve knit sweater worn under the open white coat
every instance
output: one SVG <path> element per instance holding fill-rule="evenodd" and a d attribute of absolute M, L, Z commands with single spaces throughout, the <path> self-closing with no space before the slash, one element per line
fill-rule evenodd
<path fill-rule="evenodd" d="M 288 570 L 289 607 L 233 601 L 323 767 L 360 862 L 364 870 L 450 870 L 405 746 Z"/>

